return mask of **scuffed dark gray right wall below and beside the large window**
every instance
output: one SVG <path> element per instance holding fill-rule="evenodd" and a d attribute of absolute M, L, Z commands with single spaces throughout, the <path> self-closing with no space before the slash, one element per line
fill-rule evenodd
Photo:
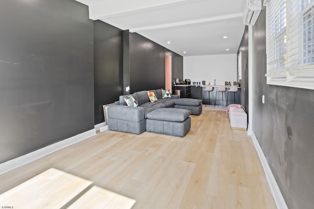
<path fill-rule="evenodd" d="M 312 209 L 314 91 L 266 84 L 265 31 L 263 9 L 253 27 L 253 132 L 288 208 Z"/>

